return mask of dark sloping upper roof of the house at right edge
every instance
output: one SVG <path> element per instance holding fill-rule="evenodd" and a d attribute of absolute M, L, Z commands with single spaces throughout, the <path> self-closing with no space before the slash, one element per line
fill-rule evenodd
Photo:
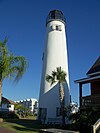
<path fill-rule="evenodd" d="M 96 60 L 96 62 L 87 72 L 87 75 L 89 76 L 98 75 L 98 74 L 100 75 L 100 57 Z"/>

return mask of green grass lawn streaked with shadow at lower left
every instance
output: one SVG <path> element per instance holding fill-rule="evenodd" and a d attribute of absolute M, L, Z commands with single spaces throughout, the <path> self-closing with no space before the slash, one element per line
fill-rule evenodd
<path fill-rule="evenodd" d="M 32 119 L 9 119 L 0 123 L 0 127 L 15 131 L 16 133 L 39 133 L 41 125 Z"/>

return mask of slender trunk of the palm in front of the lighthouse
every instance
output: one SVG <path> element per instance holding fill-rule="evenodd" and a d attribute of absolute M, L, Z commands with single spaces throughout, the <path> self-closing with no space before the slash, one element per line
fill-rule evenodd
<path fill-rule="evenodd" d="M 65 112 L 64 112 L 64 106 L 65 106 L 65 99 L 64 99 L 64 87 L 62 83 L 59 83 L 59 100 L 61 105 L 61 115 L 62 115 L 62 125 L 65 125 Z"/>

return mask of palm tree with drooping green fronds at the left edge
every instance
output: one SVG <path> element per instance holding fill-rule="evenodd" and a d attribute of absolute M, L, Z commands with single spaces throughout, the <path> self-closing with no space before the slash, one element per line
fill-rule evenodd
<path fill-rule="evenodd" d="M 0 41 L 0 105 L 2 100 L 2 82 L 5 78 L 18 81 L 27 68 L 27 60 L 23 56 L 14 56 L 7 48 L 6 38 Z"/>

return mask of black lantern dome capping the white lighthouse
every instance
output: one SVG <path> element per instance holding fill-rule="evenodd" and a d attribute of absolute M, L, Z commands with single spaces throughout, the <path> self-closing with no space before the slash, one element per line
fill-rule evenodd
<path fill-rule="evenodd" d="M 49 12 L 47 19 L 46 19 L 46 25 L 53 20 L 59 20 L 63 22 L 64 24 L 66 23 L 66 19 L 63 13 L 59 10 L 52 10 Z"/>

